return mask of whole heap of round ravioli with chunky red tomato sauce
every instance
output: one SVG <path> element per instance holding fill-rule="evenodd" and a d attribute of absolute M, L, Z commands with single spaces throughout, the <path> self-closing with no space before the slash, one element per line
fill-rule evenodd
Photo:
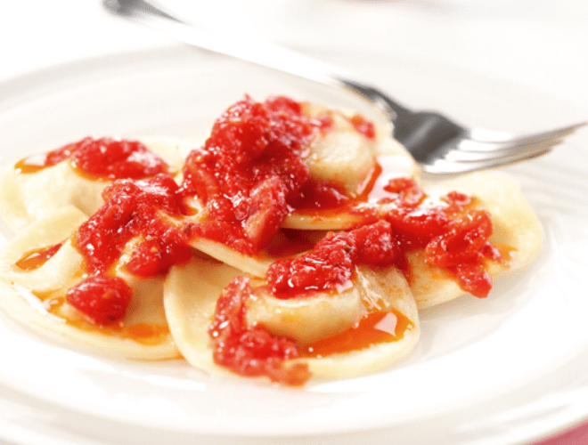
<path fill-rule="evenodd" d="M 0 304 L 99 352 L 290 385 L 362 376 L 412 352 L 419 310 L 486 297 L 542 244 L 515 182 L 421 182 L 389 134 L 322 105 L 246 96 L 200 144 L 114 142 L 112 162 L 99 141 L 0 178 L 18 231 Z"/>

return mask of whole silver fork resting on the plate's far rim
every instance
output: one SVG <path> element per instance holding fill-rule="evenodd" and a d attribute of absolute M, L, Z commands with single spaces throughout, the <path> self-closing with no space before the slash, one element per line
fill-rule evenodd
<path fill-rule="evenodd" d="M 103 0 L 103 4 L 118 16 L 157 28 L 181 42 L 359 93 L 384 111 L 394 125 L 396 140 L 429 174 L 461 174 L 535 158 L 588 124 L 581 122 L 518 136 L 482 128 L 469 129 L 437 112 L 407 109 L 379 89 L 352 80 L 353 76 L 322 61 L 254 37 L 227 38 L 181 20 L 151 0 Z"/>

